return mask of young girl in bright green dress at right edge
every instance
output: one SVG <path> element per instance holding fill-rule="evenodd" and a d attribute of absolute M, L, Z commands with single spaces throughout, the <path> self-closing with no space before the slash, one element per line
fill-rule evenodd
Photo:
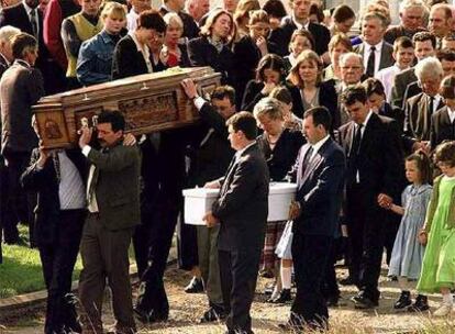
<path fill-rule="evenodd" d="M 421 292 L 441 292 L 441 307 L 435 316 L 451 314 L 455 287 L 455 142 L 436 147 L 434 155 L 442 175 L 434 180 L 433 194 L 419 234 L 419 241 L 426 244 L 422 274 L 417 289 Z"/>

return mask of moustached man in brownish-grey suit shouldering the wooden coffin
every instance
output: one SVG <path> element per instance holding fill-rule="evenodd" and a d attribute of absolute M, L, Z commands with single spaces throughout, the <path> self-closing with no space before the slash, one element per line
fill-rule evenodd
<path fill-rule="evenodd" d="M 106 278 L 112 290 L 115 333 L 135 333 L 127 249 L 140 223 L 141 156 L 137 146 L 123 146 L 125 121 L 119 111 L 98 118 L 98 151 L 89 145 L 92 129 L 82 127 L 79 146 L 90 165 L 80 254 L 79 280 L 82 326 L 102 333 L 101 308 Z M 85 333 L 85 332 L 84 332 Z"/>

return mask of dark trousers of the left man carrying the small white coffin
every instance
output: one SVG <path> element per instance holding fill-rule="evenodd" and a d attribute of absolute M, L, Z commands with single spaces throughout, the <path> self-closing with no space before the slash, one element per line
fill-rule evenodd
<path fill-rule="evenodd" d="M 253 333 L 249 310 L 256 290 L 262 249 L 219 250 L 221 291 L 228 333 Z"/>

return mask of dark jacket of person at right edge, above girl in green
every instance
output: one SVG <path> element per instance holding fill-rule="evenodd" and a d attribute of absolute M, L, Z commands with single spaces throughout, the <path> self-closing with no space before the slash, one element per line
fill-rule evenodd
<path fill-rule="evenodd" d="M 448 107 L 444 105 L 431 116 L 430 144 L 436 148 L 444 141 L 455 141 L 455 122 L 451 122 Z"/>

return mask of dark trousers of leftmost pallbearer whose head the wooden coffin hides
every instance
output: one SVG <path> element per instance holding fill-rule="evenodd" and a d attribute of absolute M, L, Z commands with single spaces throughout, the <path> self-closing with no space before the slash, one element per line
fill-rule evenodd
<path fill-rule="evenodd" d="M 47 289 L 44 333 L 74 329 L 77 314 L 71 296 L 73 269 L 79 252 L 85 210 L 60 211 L 58 230 L 52 244 L 38 245 Z"/>

